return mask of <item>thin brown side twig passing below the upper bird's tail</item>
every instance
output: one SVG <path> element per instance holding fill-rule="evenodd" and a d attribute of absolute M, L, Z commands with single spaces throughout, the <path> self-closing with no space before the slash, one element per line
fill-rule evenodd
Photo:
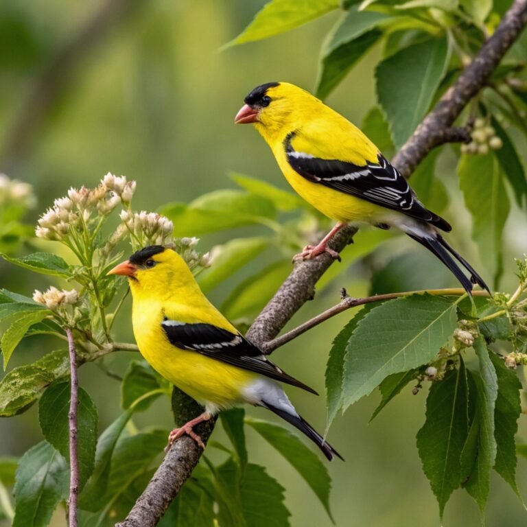
<path fill-rule="evenodd" d="M 312 329 L 315 326 L 325 322 L 329 318 L 332 318 L 335 315 L 350 309 L 351 307 L 358 307 L 359 305 L 371 304 L 373 302 L 384 302 L 385 300 L 393 300 L 393 298 L 400 298 L 401 296 L 410 296 L 411 294 L 432 294 L 434 296 L 460 296 L 465 294 L 465 290 L 462 288 L 449 288 L 449 289 L 427 289 L 420 291 L 407 291 L 403 293 L 386 293 L 386 294 L 376 294 L 374 296 L 366 296 L 364 298 L 352 298 L 351 296 L 346 296 L 342 299 L 337 305 L 333 305 L 329 309 L 326 309 L 324 312 L 314 316 L 311 320 L 307 320 L 305 323 L 295 327 L 291 331 L 284 333 L 282 336 L 274 338 L 264 346 L 264 352 L 266 354 L 271 353 L 275 349 L 283 346 L 287 342 L 290 342 L 294 338 L 301 336 L 302 333 L 305 333 L 309 329 Z M 473 291 L 473 296 L 489 296 L 487 291 Z"/>

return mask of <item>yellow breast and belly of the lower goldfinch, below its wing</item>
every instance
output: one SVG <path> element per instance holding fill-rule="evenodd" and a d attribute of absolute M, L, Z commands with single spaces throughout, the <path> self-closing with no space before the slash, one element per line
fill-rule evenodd
<path fill-rule="evenodd" d="M 134 336 L 145 360 L 198 403 L 229 408 L 243 400 L 243 390 L 256 374 L 170 344 L 161 327 L 163 310 L 156 303 L 135 303 Z"/>

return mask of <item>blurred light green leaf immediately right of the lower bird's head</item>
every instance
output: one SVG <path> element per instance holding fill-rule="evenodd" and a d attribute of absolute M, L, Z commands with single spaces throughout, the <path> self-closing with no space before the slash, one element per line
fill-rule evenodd
<path fill-rule="evenodd" d="M 207 294 L 263 253 L 270 244 L 271 239 L 268 237 L 254 237 L 231 239 L 226 244 L 215 246 L 211 251 L 213 265 L 198 275 L 200 288 Z"/>

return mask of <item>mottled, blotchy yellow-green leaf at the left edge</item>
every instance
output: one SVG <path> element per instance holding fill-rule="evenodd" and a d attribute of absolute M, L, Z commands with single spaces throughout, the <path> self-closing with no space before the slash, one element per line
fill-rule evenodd
<path fill-rule="evenodd" d="M 68 352 L 51 351 L 33 364 L 14 368 L 0 381 L 0 417 L 25 412 L 43 388 L 69 375 Z"/>

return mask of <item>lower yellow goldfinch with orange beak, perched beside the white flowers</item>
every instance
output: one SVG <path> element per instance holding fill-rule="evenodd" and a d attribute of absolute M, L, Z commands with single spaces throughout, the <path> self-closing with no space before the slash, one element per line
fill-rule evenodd
<path fill-rule="evenodd" d="M 316 392 L 275 366 L 229 323 L 201 292 L 178 253 L 163 246 L 138 250 L 108 274 L 129 279 L 132 324 L 139 350 L 165 379 L 204 406 L 204 412 L 172 430 L 169 444 L 237 403 L 268 408 L 296 426 L 331 460 L 340 454 L 302 417 L 276 382 Z"/>

